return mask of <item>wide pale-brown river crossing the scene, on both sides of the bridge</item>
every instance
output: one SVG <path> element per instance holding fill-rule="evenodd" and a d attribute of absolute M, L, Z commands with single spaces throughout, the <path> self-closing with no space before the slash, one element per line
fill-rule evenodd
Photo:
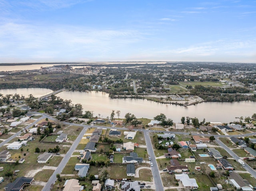
<path fill-rule="evenodd" d="M 2 89 L 0 93 L 19 94 L 27 96 L 29 94 L 40 97 L 51 93 L 50 89 L 43 88 L 20 88 L 20 89 Z M 237 120 L 235 117 L 252 116 L 256 113 L 256 102 L 202 102 L 200 104 L 184 107 L 172 104 L 162 104 L 148 100 L 134 98 L 112 99 L 107 93 L 100 91 L 64 91 L 57 96 L 64 100 L 72 100 L 73 104 L 82 104 L 84 111 L 93 111 L 94 116 L 106 118 L 110 117 L 112 110 L 120 110 L 120 118 L 128 112 L 134 114 L 137 118 L 153 119 L 154 116 L 163 113 L 167 118 L 174 122 L 180 122 L 182 116 L 197 117 L 199 121 L 203 118 L 206 122 L 232 122 Z M 117 117 L 117 116 L 115 116 Z"/>

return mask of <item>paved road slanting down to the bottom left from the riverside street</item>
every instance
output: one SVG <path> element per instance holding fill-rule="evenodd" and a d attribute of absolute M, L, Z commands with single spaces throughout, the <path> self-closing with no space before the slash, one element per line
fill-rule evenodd
<path fill-rule="evenodd" d="M 70 149 L 68 150 L 67 154 L 64 156 L 64 158 L 62 159 L 62 161 L 60 162 L 60 164 L 58 165 L 57 169 L 54 171 L 54 173 L 52 174 L 52 176 L 49 178 L 49 180 L 47 181 L 46 185 L 44 186 L 44 188 L 42 189 L 42 191 L 49 191 L 52 186 L 54 185 L 54 183 L 56 182 L 57 178 L 56 175 L 60 174 L 62 172 L 62 170 L 64 169 L 64 167 L 66 166 L 66 164 L 68 163 L 68 160 L 70 159 L 71 155 L 73 154 L 74 150 L 76 149 L 76 147 L 78 146 L 80 140 L 82 139 L 82 137 L 84 136 L 86 130 L 88 127 L 84 127 L 83 130 L 80 132 L 80 134 L 78 135 L 78 137 L 76 138 L 76 140 L 74 141 L 74 143 L 72 144 L 72 146 L 70 147 Z"/>

